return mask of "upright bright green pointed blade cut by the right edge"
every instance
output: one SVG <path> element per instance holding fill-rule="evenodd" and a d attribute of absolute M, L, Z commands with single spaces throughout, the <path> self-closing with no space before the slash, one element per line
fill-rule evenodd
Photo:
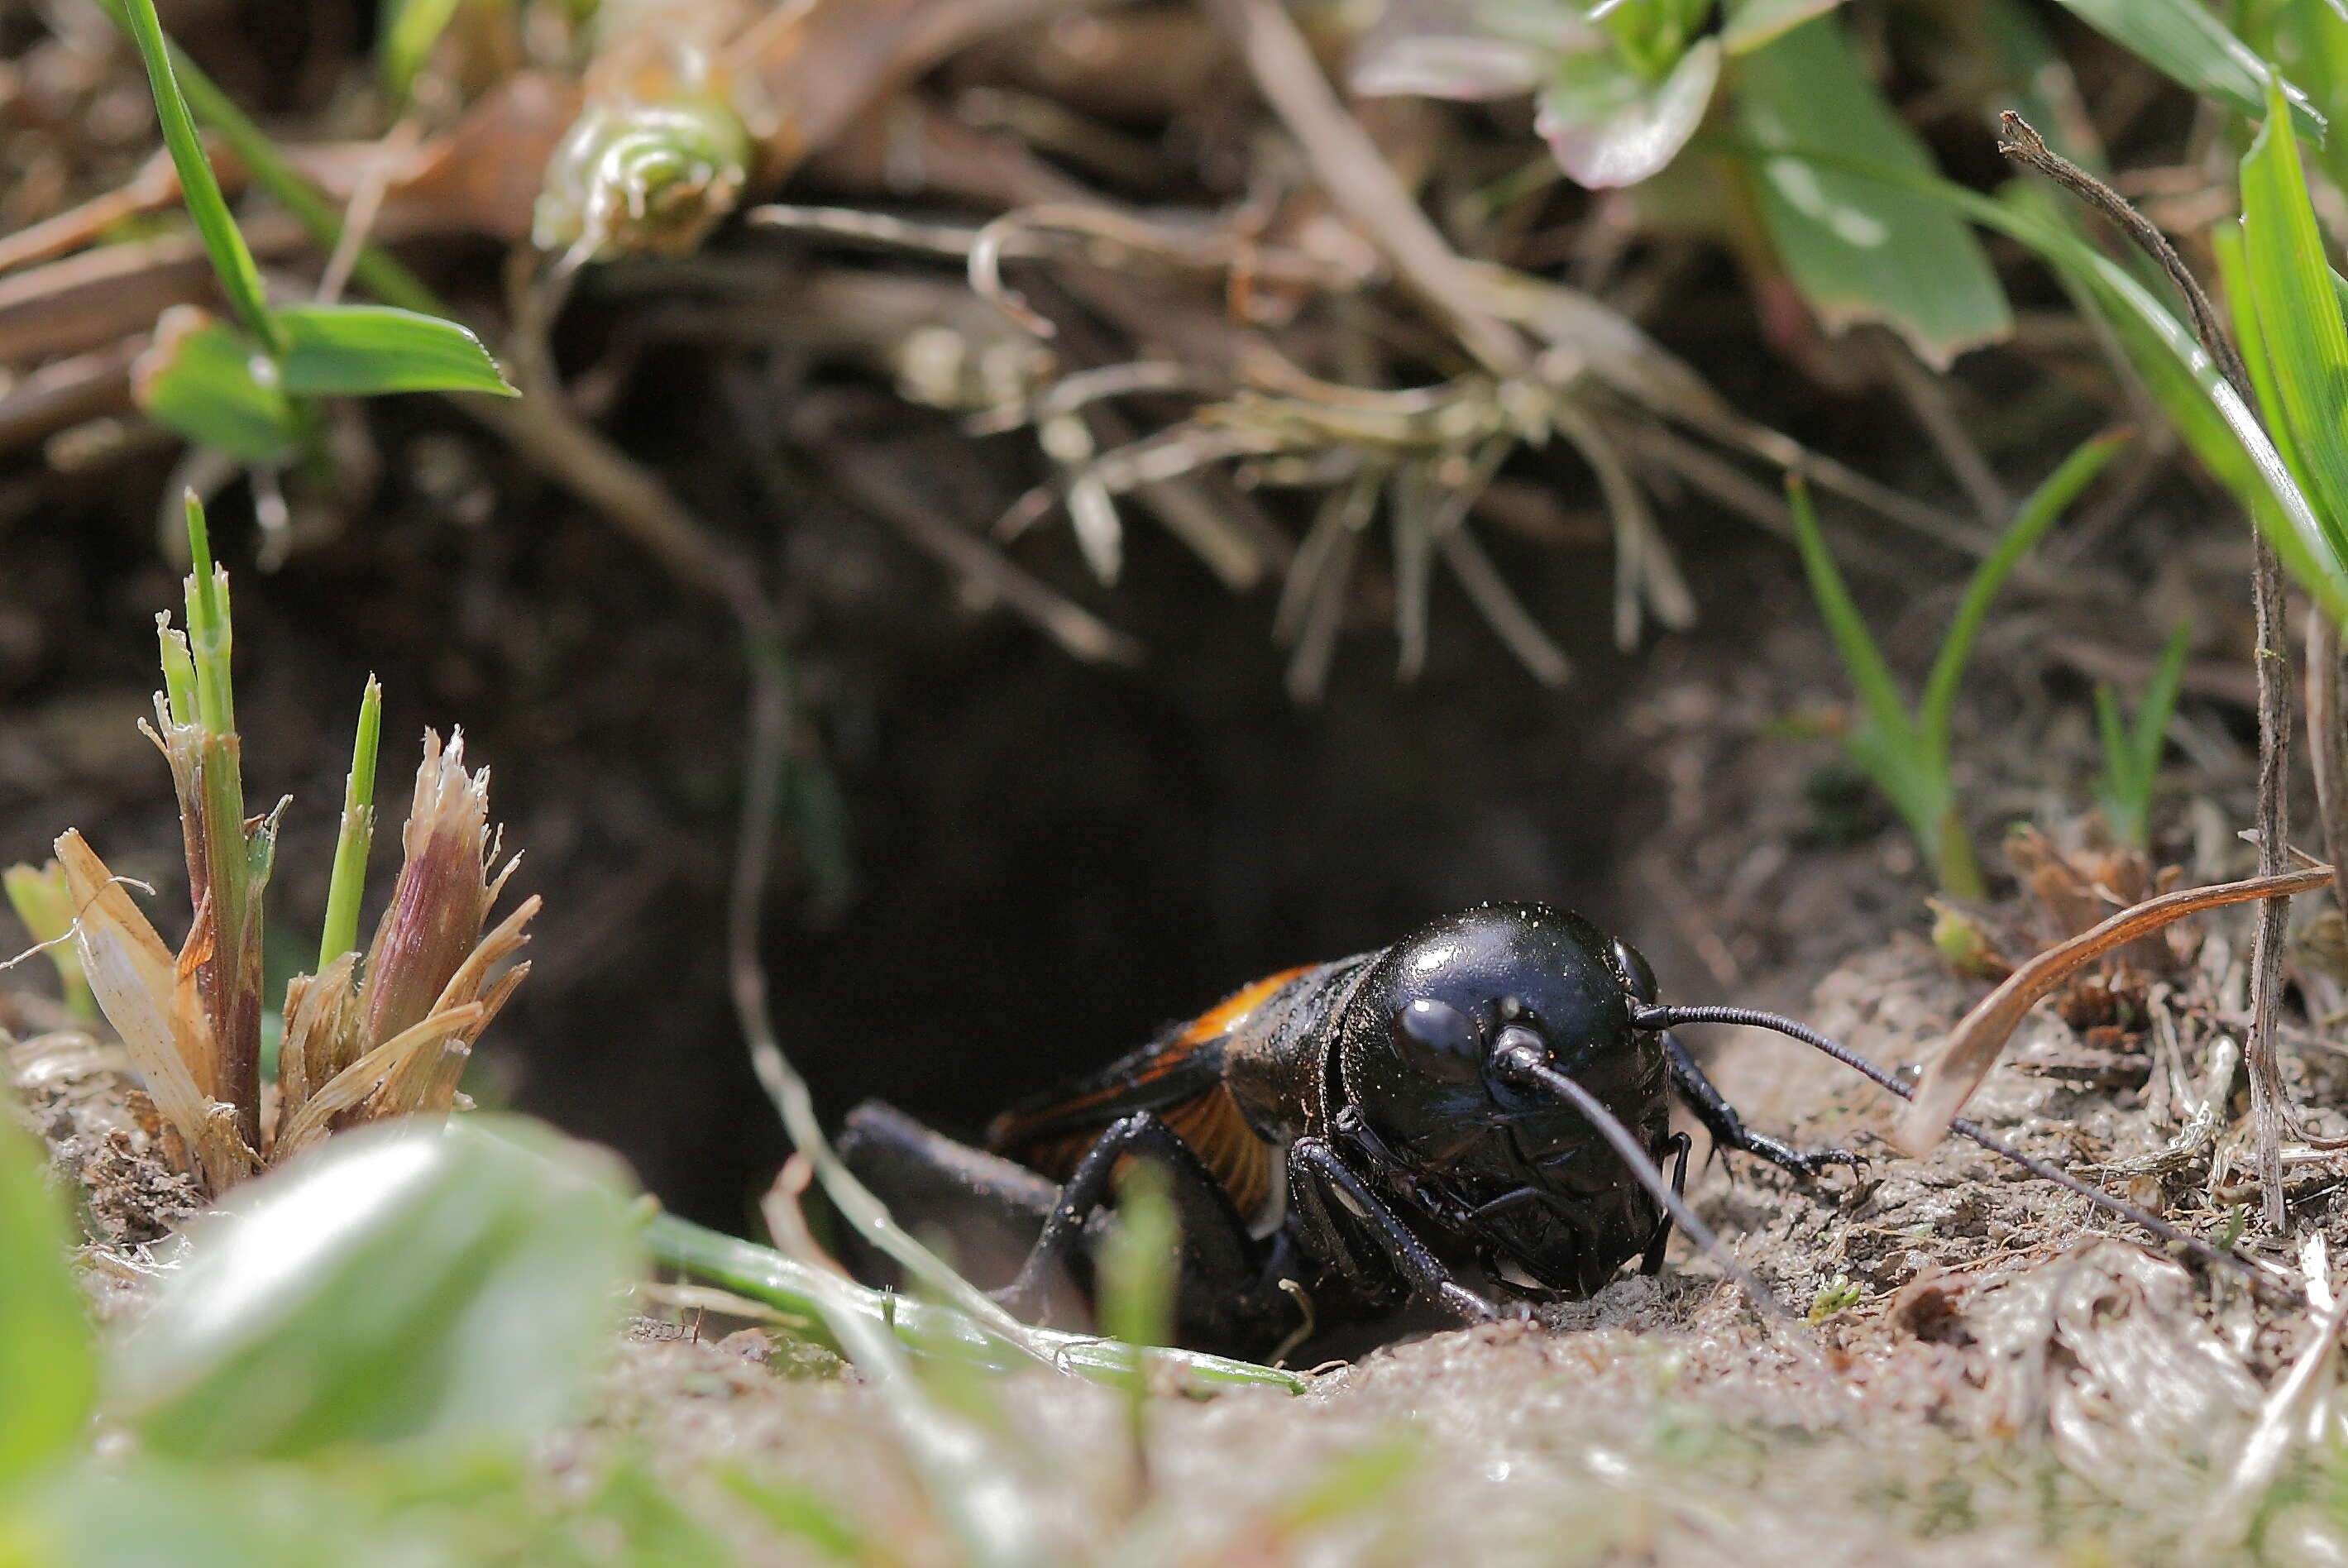
<path fill-rule="evenodd" d="M 2315 507 L 2334 561 L 2348 561 L 2348 319 L 2332 291 L 2299 143 L 2280 89 L 2242 157 L 2242 263 L 2273 371 L 2278 446 Z"/>

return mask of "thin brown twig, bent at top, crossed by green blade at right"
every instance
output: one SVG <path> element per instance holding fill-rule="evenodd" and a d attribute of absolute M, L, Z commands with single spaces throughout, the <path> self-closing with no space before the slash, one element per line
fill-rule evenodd
<path fill-rule="evenodd" d="M 2022 115 L 2008 110 L 2000 115 L 2000 124 L 2005 134 L 1998 138 L 1998 153 L 2017 164 L 2038 169 L 2080 202 L 2111 218 L 2146 256 L 2160 263 L 2160 270 L 2170 275 L 2177 293 L 2186 300 L 2186 310 L 2193 317 L 2193 336 L 2217 359 L 2219 371 L 2235 397 L 2242 399 L 2242 406 L 2256 408 L 2259 397 L 2252 390 L 2249 369 L 2242 364 L 2240 350 L 2226 336 L 2226 324 L 2219 319 L 2217 305 L 2209 303 L 2209 293 L 2193 277 L 2193 270 L 2186 268 L 2170 237 L 2151 218 L 2130 207 L 2111 185 L 2050 150 L 2045 138 Z M 2292 831 L 2289 800 L 2285 798 L 2292 758 L 2292 697 L 2282 674 L 2289 634 L 2282 620 L 2282 561 L 2256 523 L 2252 526 L 2252 549 L 2249 589 L 2259 624 L 2259 648 L 2254 653 L 2259 674 L 2259 876 L 2273 878 L 2282 871 L 2285 845 Z M 2289 897 L 2268 899 L 2259 908 L 2249 960 L 2249 1106 L 2259 1131 L 2261 1207 L 2271 1230 L 2282 1230 L 2282 1134 L 2292 1122 L 2282 1070 L 2275 1066 L 2275 1021 L 2282 1007 L 2282 941 L 2289 911 Z"/>

